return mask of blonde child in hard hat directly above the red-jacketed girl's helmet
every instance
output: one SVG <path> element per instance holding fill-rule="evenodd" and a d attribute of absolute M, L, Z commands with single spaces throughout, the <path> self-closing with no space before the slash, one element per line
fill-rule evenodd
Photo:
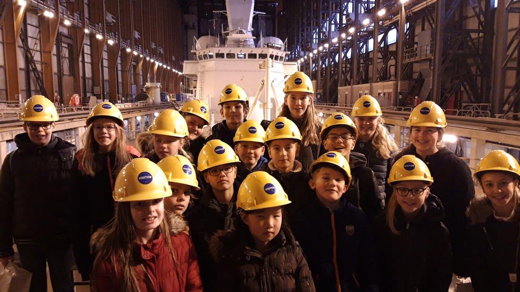
<path fill-rule="evenodd" d="M 183 116 L 174 110 L 164 110 L 153 120 L 148 132 L 153 135 L 153 152 L 147 153 L 146 158 L 154 163 L 168 155 L 188 156 L 183 150 L 188 137 L 188 126 Z"/>

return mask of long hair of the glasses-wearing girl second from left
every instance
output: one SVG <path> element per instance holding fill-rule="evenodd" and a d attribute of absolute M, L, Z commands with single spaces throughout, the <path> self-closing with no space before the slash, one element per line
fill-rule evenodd
<path fill-rule="evenodd" d="M 87 176 L 95 176 L 96 172 L 104 167 L 104 165 L 96 165 L 95 155 L 99 145 L 94 139 L 93 125 L 94 124 L 90 124 L 83 135 L 84 148 L 80 158 L 82 172 Z M 116 125 L 116 137 L 112 149 L 115 151 L 115 162 L 112 173 L 116 176 L 121 168 L 132 160 L 132 155 L 126 151 L 126 135 L 124 129 L 116 123 L 114 123 L 114 125 Z"/>

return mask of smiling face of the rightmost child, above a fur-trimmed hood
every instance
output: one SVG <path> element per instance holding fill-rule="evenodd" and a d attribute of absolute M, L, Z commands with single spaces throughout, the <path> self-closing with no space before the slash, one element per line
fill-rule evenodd
<path fill-rule="evenodd" d="M 492 171 L 482 175 L 480 185 L 493 208 L 500 208 L 513 204 L 514 189 L 518 187 L 518 179 L 502 171 Z"/>

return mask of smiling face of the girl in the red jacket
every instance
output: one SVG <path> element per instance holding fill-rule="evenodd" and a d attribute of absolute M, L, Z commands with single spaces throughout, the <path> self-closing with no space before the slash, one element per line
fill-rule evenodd
<path fill-rule="evenodd" d="M 159 227 L 164 217 L 164 200 L 134 201 L 130 203 L 130 212 L 136 232 L 145 233 Z"/>

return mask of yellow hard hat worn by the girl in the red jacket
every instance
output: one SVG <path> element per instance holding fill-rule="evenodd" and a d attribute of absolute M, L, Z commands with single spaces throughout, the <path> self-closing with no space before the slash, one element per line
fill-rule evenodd
<path fill-rule="evenodd" d="M 148 158 L 134 158 L 115 179 L 112 196 L 116 202 L 155 200 L 172 195 L 162 169 Z"/>

